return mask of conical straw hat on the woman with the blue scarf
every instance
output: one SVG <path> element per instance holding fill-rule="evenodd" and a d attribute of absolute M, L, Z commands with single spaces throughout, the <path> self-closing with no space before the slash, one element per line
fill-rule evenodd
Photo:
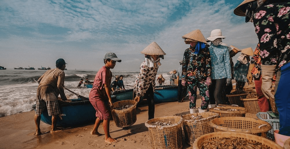
<path fill-rule="evenodd" d="M 189 44 L 189 41 L 200 41 L 203 42 L 204 44 L 208 44 L 203 36 L 203 34 L 201 33 L 201 31 L 199 29 L 196 29 L 190 33 L 187 33 L 185 35 L 182 36 L 183 39 L 185 39 L 185 43 Z"/>

